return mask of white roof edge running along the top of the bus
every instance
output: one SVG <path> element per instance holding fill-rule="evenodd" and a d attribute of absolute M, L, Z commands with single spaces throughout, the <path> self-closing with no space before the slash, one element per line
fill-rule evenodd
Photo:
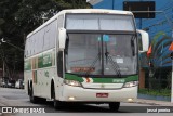
<path fill-rule="evenodd" d="M 106 10 L 106 9 L 69 9 L 69 10 L 62 10 L 59 11 L 56 15 L 54 15 L 53 17 L 51 17 L 49 21 L 46 21 L 44 24 L 42 24 L 41 26 L 39 26 L 37 29 L 35 29 L 34 31 L 31 31 L 27 38 L 29 38 L 31 35 L 34 35 L 35 33 L 37 33 L 38 30 L 40 30 L 41 28 L 43 28 L 44 26 L 46 26 L 48 24 L 50 24 L 51 22 L 53 22 L 54 20 L 56 20 L 59 15 L 62 14 L 66 14 L 66 13 L 95 13 L 95 14 L 124 14 L 124 15 L 133 15 L 132 12 L 130 11 L 120 11 L 120 10 Z"/>

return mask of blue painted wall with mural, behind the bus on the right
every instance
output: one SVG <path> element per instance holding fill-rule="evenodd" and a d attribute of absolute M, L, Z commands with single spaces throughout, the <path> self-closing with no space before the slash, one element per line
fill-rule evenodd
<path fill-rule="evenodd" d="M 155 1 L 156 11 L 164 12 L 156 13 L 156 18 L 136 18 L 136 26 L 149 33 L 150 44 L 152 46 L 150 59 L 146 57 L 146 53 L 142 54 L 142 66 L 147 67 L 147 62 L 150 60 L 155 67 L 171 67 L 169 47 L 172 41 L 173 0 L 103 0 L 93 8 L 122 10 L 123 1 Z"/>

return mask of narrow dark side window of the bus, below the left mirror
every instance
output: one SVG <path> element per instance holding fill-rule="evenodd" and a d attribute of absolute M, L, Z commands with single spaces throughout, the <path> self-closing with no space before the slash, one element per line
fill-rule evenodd
<path fill-rule="evenodd" d="M 63 78 L 63 51 L 57 54 L 57 75 Z"/>

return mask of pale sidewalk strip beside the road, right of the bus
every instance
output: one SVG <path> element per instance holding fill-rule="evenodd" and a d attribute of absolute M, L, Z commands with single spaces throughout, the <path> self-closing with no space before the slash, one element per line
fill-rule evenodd
<path fill-rule="evenodd" d="M 137 99 L 135 103 L 138 104 L 149 104 L 149 105 L 158 105 L 158 106 L 173 106 L 173 103 L 167 101 L 155 101 L 155 100 L 144 100 Z"/>

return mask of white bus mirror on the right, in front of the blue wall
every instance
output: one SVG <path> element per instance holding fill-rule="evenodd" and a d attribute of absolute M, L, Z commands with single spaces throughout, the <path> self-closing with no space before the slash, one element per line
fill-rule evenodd
<path fill-rule="evenodd" d="M 147 52 L 149 48 L 149 35 L 144 30 L 137 29 L 138 49 L 139 52 Z"/>

